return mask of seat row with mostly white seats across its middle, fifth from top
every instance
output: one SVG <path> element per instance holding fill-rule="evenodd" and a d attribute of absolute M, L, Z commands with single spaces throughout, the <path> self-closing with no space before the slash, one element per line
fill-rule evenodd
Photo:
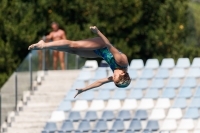
<path fill-rule="evenodd" d="M 170 99 L 168 98 L 159 98 L 154 103 L 154 99 L 151 98 L 143 98 L 141 101 L 137 101 L 136 99 L 125 99 L 123 105 L 119 99 L 110 99 L 108 100 L 108 104 L 105 106 L 105 102 L 103 100 L 93 100 L 90 107 L 86 100 L 77 100 L 75 102 L 74 107 L 72 108 L 70 101 L 63 101 L 58 110 L 69 111 L 85 111 L 85 110 L 120 110 L 120 109 L 153 109 L 153 108 L 181 108 L 185 109 L 187 107 L 190 108 L 200 108 L 200 97 L 194 97 L 191 99 L 191 102 L 188 103 L 186 98 L 176 98 L 174 102 L 171 104 Z M 165 105 L 163 105 L 165 104 Z"/>

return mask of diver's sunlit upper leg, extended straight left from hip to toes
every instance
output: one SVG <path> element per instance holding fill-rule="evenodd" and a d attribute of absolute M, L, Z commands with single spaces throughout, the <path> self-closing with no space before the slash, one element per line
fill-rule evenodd
<path fill-rule="evenodd" d="M 80 41 L 70 41 L 70 40 L 58 40 L 53 42 L 47 42 L 39 41 L 36 44 L 30 45 L 29 50 L 38 50 L 38 49 L 73 49 L 73 50 L 95 50 L 99 48 L 106 47 L 106 44 L 100 37 L 86 39 L 86 40 L 80 40 Z"/>

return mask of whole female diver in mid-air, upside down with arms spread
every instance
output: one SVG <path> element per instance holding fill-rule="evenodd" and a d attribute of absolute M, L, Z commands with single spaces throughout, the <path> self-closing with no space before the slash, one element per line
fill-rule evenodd
<path fill-rule="evenodd" d="M 114 82 L 117 87 L 127 87 L 131 79 L 127 73 L 128 59 L 125 54 L 119 52 L 109 40 L 98 30 L 96 26 L 90 27 L 91 31 L 99 35 L 99 37 L 85 39 L 80 41 L 59 40 L 54 42 L 45 43 L 39 41 L 37 44 L 29 46 L 29 50 L 38 49 L 54 49 L 58 51 L 65 51 L 72 54 L 77 54 L 86 58 L 102 57 L 105 59 L 113 70 L 113 76 L 100 79 L 93 84 L 77 89 L 78 92 L 75 97 L 87 90 L 101 86 L 108 82 Z"/>

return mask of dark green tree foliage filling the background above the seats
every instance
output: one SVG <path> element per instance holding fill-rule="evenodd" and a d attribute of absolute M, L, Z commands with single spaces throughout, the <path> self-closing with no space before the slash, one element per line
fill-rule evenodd
<path fill-rule="evenodd" d="M 188 0 L 1 0 L 0 86 L 52 21 L 70 40 L 94 37 L 96 25 L 129 59 L 200 56 L 186 43 L 188 12 Z"/>

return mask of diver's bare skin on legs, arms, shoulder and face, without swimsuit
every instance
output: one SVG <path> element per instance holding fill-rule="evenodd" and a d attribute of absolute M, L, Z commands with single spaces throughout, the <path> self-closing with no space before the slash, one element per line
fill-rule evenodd
<path fill-rule="evenodd" d="M 59 51 L 65 51 L 73 54 L 77 54 L 83 57 L 96 58 L 99 57 L 96 55 L 93 50 L 107 47 L 109 51 L 113 54 L 115 61 L 120 66 L 128 66 L 128 59 L 125 54 L 120 53 L 114 46 L 111 45 L 109 40 L 98 30 L 96 26 L 91 26 L 90 30 L 97 34 L 99 37 L 85 39 L 80 41 L 70 41 L 70 40 L 59 40 L 54 42 L 45 43 L 44 41 L 39 41 L 36 44 L 29 46 L 29 50 L 38 50 L 38 49 L 56 49 Z M 124 75 L 127 72 L 127 69 L 116 69 L 114 74 L 111 77 L 100 79 L 92 83 L 91 85 L 86 86 L 85 88 L 76 89 L 77 93 L 74 97 L 79 95 L 82 92 L 88 91 L 90 89 L 99 87 L 108 82 L 119 81 L 119 76 Z"/>

